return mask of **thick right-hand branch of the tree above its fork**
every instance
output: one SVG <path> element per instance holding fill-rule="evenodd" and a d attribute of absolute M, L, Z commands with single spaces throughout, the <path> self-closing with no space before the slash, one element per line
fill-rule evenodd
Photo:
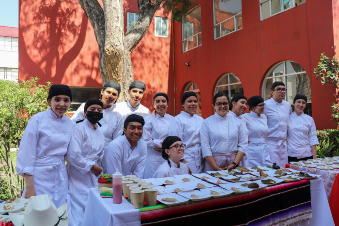
<path fill-rule="evenodd" d="M 163 0 L 138 0 L 139 19 L 124 37 L 125 49 L 131 53 L 145 36 L 146 31 L 150 27 L 155 11 L 159 8 Z"/>

